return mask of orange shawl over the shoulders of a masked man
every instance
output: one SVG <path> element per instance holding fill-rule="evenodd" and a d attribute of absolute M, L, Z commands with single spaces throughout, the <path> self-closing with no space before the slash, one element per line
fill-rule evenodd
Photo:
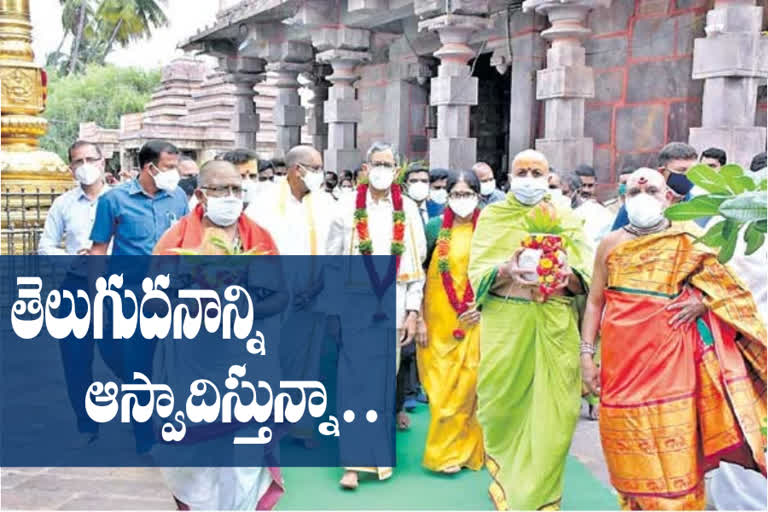
<path fill-rule="evenodd" d="M 269 231 L 262 228 L 245 214 L 240 214 L 237 221 L 237 230 L 240 234 L 243 250 L 257 249 L 264 254 L 278 254 L 277 246 L 272 240 Z M 205 237 L 206 229 L 203 227 L 203 207 L 197 205 L 188 215 L 182 217 L 179 222 L 166 231 L 158 240 L 152 254 L 173 255 L 172 249 L 197 249 L 200 248 Z M 204 251 L 210 252 L 208 250 Z"/>

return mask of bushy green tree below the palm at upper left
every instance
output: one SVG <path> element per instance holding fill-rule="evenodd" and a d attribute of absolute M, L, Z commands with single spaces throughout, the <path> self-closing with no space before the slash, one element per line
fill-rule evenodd
<path fill-rule="evenodd" d="M 81 122 L 119 128 L 120 116 L 144 111 L 160 71 L 116 66 L 89 66 L 82 75 L 52 73 L 45 113 L 48 133 L 41 146 L 67 161 L 67 148 L 77 139 Z"/>

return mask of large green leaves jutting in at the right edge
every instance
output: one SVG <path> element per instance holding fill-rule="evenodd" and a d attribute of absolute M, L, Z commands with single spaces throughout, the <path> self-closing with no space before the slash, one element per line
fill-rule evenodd
<path fill-rule="evenodd" d="M 739 236 L 746 242 L 747 255 L 763 246 L 768 216 L 768 185 L 762 176 L 753 179 L 733 164 L 723 166 L 720 172 L 706 165 L 696 165 L 687 176 L 708 194 L 670 206 L 665 212 L 669 220 L 720 217 L 722 220 L 710 227 L 698 241 L 717 248 L 718 259 L 723 263 L 733 257 Z"/>

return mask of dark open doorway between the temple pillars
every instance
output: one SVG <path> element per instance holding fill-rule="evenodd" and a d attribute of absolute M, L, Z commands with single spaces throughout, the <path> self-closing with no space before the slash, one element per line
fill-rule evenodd
<path fill-rule="evenodd" d="M 499 74 L 491 66 L 491 53 L 484 53 L 472 76 L 478 79 L 477 105 L 470 109 L 469 135 L 477 139 L 477 160 L 489 164 L 501 184 L 509 165 L 510 72 Z"/>

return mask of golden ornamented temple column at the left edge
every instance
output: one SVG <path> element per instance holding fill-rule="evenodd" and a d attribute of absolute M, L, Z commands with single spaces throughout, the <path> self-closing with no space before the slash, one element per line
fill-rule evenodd
<path fill-rule="evenodd" d="M 35 65 L 29 0 L 0 0 L 0 253 L 35 252 L 45 214 L 73 185 L 69 168 L 42 151 L 47 76 Z"/>

